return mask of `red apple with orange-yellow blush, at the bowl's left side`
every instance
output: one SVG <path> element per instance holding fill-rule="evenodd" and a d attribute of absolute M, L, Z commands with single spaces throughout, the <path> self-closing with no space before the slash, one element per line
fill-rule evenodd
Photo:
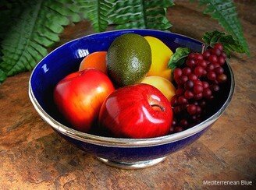
<path fill-rule="evenodd" d="M 101 104 L 115 90 L 111 80 L 98 69 L 73 72 L 54 90 L 54 101 L 67 121 L 81 132 L 89 132 Z"/>

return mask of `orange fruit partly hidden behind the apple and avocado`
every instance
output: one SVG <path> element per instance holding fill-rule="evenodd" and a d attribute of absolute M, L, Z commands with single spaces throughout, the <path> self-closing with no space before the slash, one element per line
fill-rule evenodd
<path fill-rule="evenodd" d="M 79 71 L 94 68 L 107 73 L 106 55 L 107 51 L 96 51 L 87 55 L 80 63 Z"/>

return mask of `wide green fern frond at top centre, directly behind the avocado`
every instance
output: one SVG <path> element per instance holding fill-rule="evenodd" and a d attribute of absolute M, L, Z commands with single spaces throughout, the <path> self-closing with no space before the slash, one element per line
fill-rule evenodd
<path fill-rule="evenodd" d="M 110 19 L 116 29 L 151 28 L 167 30 L 172 25 L 166 19 L 166 8 L 172 1 L 119 0 L 115 1 Z"/>

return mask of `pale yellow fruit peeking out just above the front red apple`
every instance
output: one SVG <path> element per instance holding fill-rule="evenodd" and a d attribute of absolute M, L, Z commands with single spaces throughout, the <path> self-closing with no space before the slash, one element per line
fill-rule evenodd
<path fill-rule="evenodd" d="M 168 79 L 165 79 L 161 76 L 147 76 L 142 80 L 141 83 L 155 86 L 165 95 L 169 101 L 171 101 L 172 97 L 176 94 L 175 86 L 173 86 L 173 84 Z"/>

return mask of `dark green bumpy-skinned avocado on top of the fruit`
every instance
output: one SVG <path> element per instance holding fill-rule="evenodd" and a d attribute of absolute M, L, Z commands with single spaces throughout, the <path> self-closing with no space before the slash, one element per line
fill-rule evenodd
<path fill-rule="evenodd" d="M 140 83 L 150 68 L 151 47 L 139 34 L 123 34 L 108 48 L 108 75 L 118 86 Z"/>

